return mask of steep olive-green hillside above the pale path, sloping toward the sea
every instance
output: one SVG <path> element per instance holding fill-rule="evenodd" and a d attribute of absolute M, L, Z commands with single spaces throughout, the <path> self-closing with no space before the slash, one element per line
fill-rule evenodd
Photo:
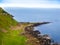
<path fill-rule="evenodd" d="M 8 27 L 14 26 L 16 24 L 17 21 L 13 19 L 12 15 L 9 15 L 0 8 L 0 28 L 8 29 Z"/>

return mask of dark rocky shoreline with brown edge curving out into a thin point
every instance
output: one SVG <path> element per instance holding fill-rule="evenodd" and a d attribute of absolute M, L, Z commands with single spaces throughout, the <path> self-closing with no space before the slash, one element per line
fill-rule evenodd
<path fill-rule="evenodd" d="M 27 42 L 33 42 L 32 45 L 60 45 L 55 43 L 48 34 L 42 35 L 39 30 L 34 30 L 34 27 L 48 23 L 50 22 L 32 23 L 32 25 L 26 26 L 24 30 L 25 36 L 28 38 Z"/>

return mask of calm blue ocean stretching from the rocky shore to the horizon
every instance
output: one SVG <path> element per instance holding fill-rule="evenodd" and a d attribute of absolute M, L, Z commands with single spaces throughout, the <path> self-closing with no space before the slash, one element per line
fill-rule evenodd
<path fill-rule="evenodd" d="M 60 42 L 60 9 L 5 7 L 4 10 L 19 22 L 51 22 L 36 29 L 42 34 L 48 34 L 55 42 Z"/>

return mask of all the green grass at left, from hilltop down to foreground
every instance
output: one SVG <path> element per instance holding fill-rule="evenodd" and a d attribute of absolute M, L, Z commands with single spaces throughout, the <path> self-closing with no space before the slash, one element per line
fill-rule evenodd
<path fill-rule="evenodd" d="M 0 8 L 0 45 L 26 45 L 26 37 L 18 35 L 22 31 L 10 29 L 16 25 L 17 21 Z"/>

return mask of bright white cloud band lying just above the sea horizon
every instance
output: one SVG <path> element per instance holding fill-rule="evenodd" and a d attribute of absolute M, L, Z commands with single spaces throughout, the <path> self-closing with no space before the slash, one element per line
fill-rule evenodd
<path fill-rule="evenodd" d="M 57 4 L 1 4 L 0 7 L 24 7 L 24 8 L 60 8 Z"/>

